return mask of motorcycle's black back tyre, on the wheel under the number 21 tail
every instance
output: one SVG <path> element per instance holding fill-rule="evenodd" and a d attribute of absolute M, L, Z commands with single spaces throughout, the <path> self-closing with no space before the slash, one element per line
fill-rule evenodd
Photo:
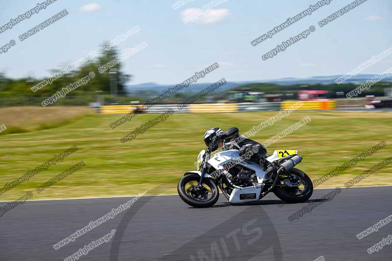
<path fill-rule="evenodd" d="M 289 171 L 289 173 L 292 173 L 296 176 L 298 176 L 302 183 L 304 183 L 303 185 L 305 186 L 305 189 L 303 191 L 302 194 L 300 195 L 294 195 L 290 192 L 288 192 L 288 188 L 287 187 L 275 187 L 273 189 L 273 193 L 280 198 L 281 200 L 287 202 L 287 203 L 301 203 L 301 202 L 305 202 L 306 200 L 308 200 L 313 193 L 313 183 L 312 180 L 309 178 L 308 175 L 306 175 L 305 172 L 303 172 L 302 170 L 299 170 L 295 167 L 291 168 Z M 292 188 L 290 188 L 292 189 Z"/>

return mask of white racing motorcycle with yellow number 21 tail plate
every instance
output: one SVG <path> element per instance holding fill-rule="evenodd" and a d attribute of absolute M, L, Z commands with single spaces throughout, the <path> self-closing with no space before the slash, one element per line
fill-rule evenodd
<path fill-rule="evenodd" d="M 255 202 L 271 191 L 287 203 L 311 197 L 312 180 L 294 167 L 302 161 L 297 150 L 275 150 L 267 158 L 275 167 L 269 177 L 264 166 L 247 160 L 250 156 L 240 157 L 233 149 L 210 158 L 211 148 L 203 149 L 197 157 L 197 170 L 186 172 L 178 182 L 180 198 L 192 207 L 208 208 L 218 201 L 219 189 L 231 204 Z"/>

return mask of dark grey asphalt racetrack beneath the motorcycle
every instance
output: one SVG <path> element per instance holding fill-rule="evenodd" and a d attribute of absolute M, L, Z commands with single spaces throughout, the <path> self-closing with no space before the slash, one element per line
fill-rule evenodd
<path fill-rule="evenodd" d="M 246 206 L 230 205 L 221 194 L 208 209 L 177 195 L 145 196 L 58 250 L 53 244 L 132 198 L 27 201 L 0 217 L 0 260 L 62 261 L 113 229 L 109 242 L 74 260 L 392 260 L 392 245 L 367 252 L 392 234 L 392 222 L 356 237 L 392 214 L 392 187 L 343 188 L 321 199 L 332 191 L 314 190 L 308 202 L 283 206 L 273 193 Z M 289 221 L 311 202 L 319 205 Z"/>

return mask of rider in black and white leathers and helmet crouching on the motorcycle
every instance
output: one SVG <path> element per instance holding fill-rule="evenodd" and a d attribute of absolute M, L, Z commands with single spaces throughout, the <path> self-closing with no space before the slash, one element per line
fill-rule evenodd
<path fill-rule="evenodd" d="M 238 149 L 240 157 L 246 153 L 252 155 L 248 160 L 264 166 L 267 169 L 267 177 L 270 180 L 270 174 L 275 170 L 274 166 L 267 160 L 267 149 L 259 142 L 255 142 L 239 134 L 237 127 L 231 127 L 223 132 L 220 128 L 209 129 L 204 134 L 204 141 L 212 144 L 212 151 L 218 147 L 224 150 Z M 207 146 L 209 145 L 207 144 Z M 255 153 L 256 151 L 256 153 Z"/>

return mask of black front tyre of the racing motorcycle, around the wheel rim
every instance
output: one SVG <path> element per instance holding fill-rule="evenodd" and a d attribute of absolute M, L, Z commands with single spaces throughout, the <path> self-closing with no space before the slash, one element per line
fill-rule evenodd
<path fill-rule="evenodd" d="M 217 185 L 215 184 L 214 180 L 210 178 L 203 179 L 203 187 L 209 187 L 211 190 L 211 198 L 208 200 L 196 200 L 191 195 L 185 191 L 185 185 L 188 182 L 196 181 L 198 182 L 200 176 L 198 174 L 187 174 L 185 175 L 179 182 L 177 186 L 178 195 L 180 198 L 187 203 L 188 205 L 195 207 L 195 208 L 209 208 L 217 203 L 219 199 L 219 190 Z M 189 189 L 188 189 L 189 190 Z"/>

